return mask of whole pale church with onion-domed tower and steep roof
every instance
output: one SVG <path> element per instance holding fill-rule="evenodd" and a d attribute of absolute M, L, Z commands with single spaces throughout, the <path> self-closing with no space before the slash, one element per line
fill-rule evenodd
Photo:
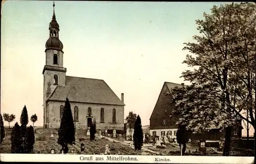
<path fill-rule="evenodd" d="M 49 39 L 46 42 L 44 75 L 44 127 L 59 128 L 66 98 L 69 99 L 76 129 L 88 129 L 95 119 L 97 129 L 122 129 L 121 100 L 102 79 L 67 76 L 63 67 L 63 44 L 59 39 L 53 4 Z"/>

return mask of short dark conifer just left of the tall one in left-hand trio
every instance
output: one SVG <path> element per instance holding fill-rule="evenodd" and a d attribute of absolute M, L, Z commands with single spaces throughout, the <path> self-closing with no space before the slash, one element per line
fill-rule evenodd
<path fill-rule="evenodd" d="M 11 153 L 22 153 L 22 143 L 20 140 L 20 126 L 16 122 L 12 128 Z"/>

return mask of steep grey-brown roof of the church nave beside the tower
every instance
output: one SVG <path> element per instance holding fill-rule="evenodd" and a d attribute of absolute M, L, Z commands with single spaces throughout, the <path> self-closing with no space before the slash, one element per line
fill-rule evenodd
<path fill-rule="evenodd" d="M 66 86 L 57 86 L 48 101 L 124 105 L 104 80 L 66 76 Z"/>

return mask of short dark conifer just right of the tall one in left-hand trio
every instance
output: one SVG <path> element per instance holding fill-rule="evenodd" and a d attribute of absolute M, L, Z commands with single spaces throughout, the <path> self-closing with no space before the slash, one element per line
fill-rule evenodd
<path fill-rule="evenodd" d="M 26 140 L 24 141 L 24 153 L 32 153 L 35 144 L 34 128 L 30 125 L 27 128 Z"/>

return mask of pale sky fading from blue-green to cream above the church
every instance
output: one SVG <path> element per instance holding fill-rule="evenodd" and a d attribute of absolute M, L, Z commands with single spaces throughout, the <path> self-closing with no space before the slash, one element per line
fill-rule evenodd
<path fill-rule="evenodd" d="M 11 125 L 19 122 L 24 105 L 29 116 L 38 116 L 35 126 L 43 124 L 42 70 L 52 4 L 2 5 L 1 113 L 16 115 Z M 132 111 L 149 125 L 164 81 L 189 85 L 180 78 L 188 69 L 183 43 L 198 35 L 195 20 L 220 4 L 225 3 L 56 1 L 66 75 L 103 79 L 119 98 L 124 93 L 124 118 Z"/>

